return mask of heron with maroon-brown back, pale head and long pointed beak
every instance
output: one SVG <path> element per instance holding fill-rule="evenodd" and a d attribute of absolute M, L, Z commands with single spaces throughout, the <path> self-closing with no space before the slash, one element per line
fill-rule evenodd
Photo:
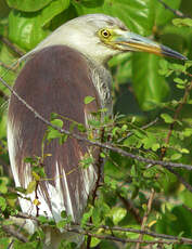
<path fill-rule="evenodd" d="M 88 128 L 92 113 L 105 108 L 105 115 L 113 114 L 107 61 L 135 51 L 187 60 L 165 45 L 131 32 L 117 17 L 88 14 L 66 22 L 26 53 L 20 60 L 26 63 L 13 89 L 44 119 L 50 120 L 54 113 L 66 117 L 65 129 L 69 130 L 72 120 Z M 87 96 L 93 100 L 89 104 L 85 104 Z M 27 188 L 33 181 L 33 165 L 25 158 L 41 157 L 46 132 L 47 124 L 12 94 L 8 110 L 8 147 L 17 187 Z M 73 132 L 78 133 L 78 129 L 74 128 Z M 44 143 L 43 154 L 49 155 L 42 161 L 47 180 L 39 181 L 36 193 L 20 198 L 22 211 L 59 222 L 61 211 L 65 210 L 74 223 L 79 223 L 99 178 L 99 148 L 90 149 L 87 142 L 75 137 L 67 137 L 63 144 L 55 139 Z M 94 160 L 85 169 L 79 162 L 87 154 Z M 38 210 L 34 204 L 37 198 Z M 27 222 L 29 233 L 34 233 L 33 221 Z M 50 248 L 54 248 L 53 243 Z"/>

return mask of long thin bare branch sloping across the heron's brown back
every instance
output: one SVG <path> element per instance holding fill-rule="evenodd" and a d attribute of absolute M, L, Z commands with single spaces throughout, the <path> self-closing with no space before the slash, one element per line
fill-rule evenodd
<path fill-rule="evenodd" d="M 164 166 L 165 168 L 168 167 L 174 167 L 174 168 L 183 168 L 187 170 L 192 170 L 192 166 L 191 165 L 183 165 L 183 163 L 176 163 L 176 162 L 171 162 L 171 161 L 162 161 L 162 160 L 153 160 L 150 158 L 144 158 L 142 156 L 138 156 L 131 153 L 127 153 L 121 148 L 115 147 L 114 145 L 110 144 L 110 143 L 101 143 L 98 141 L 90 141 L 79 134 L 76 133 L 72 133 L 68 130 L 59 128 L 57 126 L 54 126 L 53 123 L 51 123 L 50 121 L 48 121 L 46 118 L 43 118 L 38 112 L 36 112 L 29 104 L 27 104 L 27 102 L 21 97 L 1 77 L 0 77 L 0 81 L 2 82 L 2 84 L 4 84 L 11 92 L 12 94 L 21 102 L 23 103 L 23 105 L 29 109 L 31 113 L 34 113 L 35 117 L 38 118 L 39 120 L 41 120 L 43 123 L 46 123 L 49 127 L 52 127 L 53 129 L 57 130 L 60 133 L 73 136 L 74 139 L 78 140 L 78 141 L 84 141 L 87 142 L 90 145 L 94 145 L 98 147 L 102 147 L 105 149 L 110 149 L 112 152 L 118 153 L 123 156 L 136 159 L 138 161 L 142 161 L 142 162 L 146 162 L 146 163 L 151 163 L 151 165 L 161 165 Z"/>

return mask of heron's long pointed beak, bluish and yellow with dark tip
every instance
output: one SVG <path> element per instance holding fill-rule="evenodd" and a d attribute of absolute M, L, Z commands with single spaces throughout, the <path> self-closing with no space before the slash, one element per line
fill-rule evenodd
<path fill-rule="evenodd" d="M 174 57 L 182 61 L 188 60 L 185 56 L 169 49 L 168 47 L 161 45 L 145 37 L 142 37 L 140 35 L 130 31 L 120 31 L 116 34 L 113 42 L 118 49 L 124 51 L 143 51 L 143 52 Z"/>

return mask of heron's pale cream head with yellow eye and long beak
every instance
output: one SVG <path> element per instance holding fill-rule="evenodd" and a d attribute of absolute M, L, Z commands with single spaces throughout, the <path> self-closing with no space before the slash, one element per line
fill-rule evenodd
<path fill-rule="evenodd" d="M 66 44 L 100 64 L 115 54 L 128 51 L 143 51 L 187 60 L 165 45 L 131 32 L 118 18 L 104 14 L 84 15 L 65 23 L 37 49 L 54 44 Z"/>

